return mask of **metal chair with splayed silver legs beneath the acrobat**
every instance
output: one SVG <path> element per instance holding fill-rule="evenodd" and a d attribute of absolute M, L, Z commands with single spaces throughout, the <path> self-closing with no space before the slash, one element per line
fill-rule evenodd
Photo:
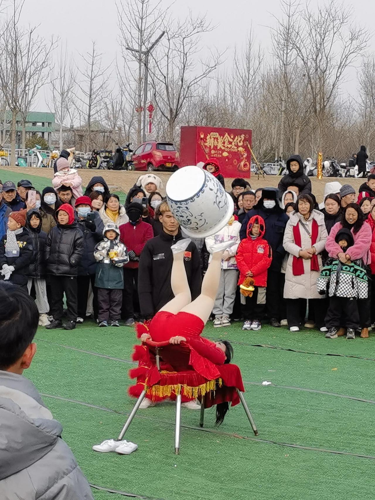
<path fill-rule="evenodd" d="M 183 343 L 183 342 L 182 342 L 182 343 Z M 169 345 L 169 346 L 170 346 L 170 344 L 169 344 L 168 342 L 153 342 L 153 341 L 151 341 L 151 340 L 147 340 L 147 341 L 145 342 L 145 344 L 147 344 L 147 346 L 148 346 L 149 348 L 151 348 L 152 350 L 154 350 L 154 352 L 153 352 L 153 353 L 155 354 L 156 367 L 157 367 L 157 369 L 158 369 L 159 373 L 161 373 L 161 371 L 160 371 L 160 350 L 161 350 L 161 349 L 162 349 L 162 347 L 164 347 L 164 346 L 167 346 L 167 345 Z M 178 346 L 176 345 L 175 347 L 178 347 Z M 194 371 L 193 371 L 193 370 L 186 371 L 186 373 L 188 373 L 188 372 L 190 372 L 190 373 L 194 373 Z M 175 373 L 175 372 L 173 372 L 173 373 Z M 183 373 L 183 372 L 182 372 L 182 373 Z M 170 375 L 172 375 L 172 372 L 170 373 Z M 168 373 L 163 372 L 163 376 L 164 376 L 164 377 L 168 377 Z M 216 383 L 215 383 L 215 387 L 216 387 L 216 386 L 217 386 L 217 384 L 218 384 L 218 380 L 215 380 L 215 382 L 216 382 Z M 174 386 L 175 386 L 175 384 L 174 384 Z M 176 455 L 178 455 L 178 454 L 179 454 L 179 452 L 180 452 L 180 430 L 181 430 L 181 388 L 182 388 L 182 386 L 183 386 L 183 384 L 181 384 L 181 387 L 180 387 L 180 391 L 179 391 L 179 393 L 176 393 L 176 419 L 175 419 L 175 434 L 174 434 L 174 452 L 175 452 L 175 454 L 176 454 Z M 139 406 L 140 406 L 141 402 L 142 402 L 142 401 L 143 401 L 143 399 L 146 397 L 146 393 L 147 393 L 147 391 L 148 391 L 150 388 L 151 388 L 151 387 L 147 387 L 147 386 L 145 386 L 145 388 L 142 390 L 142 392 L 141 392 L 141 394 L 139 395 L 139 397 L 138 397 L 137 401 L 135 402 L 134 407 L 133 407 L 133 409 L 131 410 L 131 412 L 130 412 L 130 414 L 129 414 L 129 416 L 128 416 L 128 418 L 127 418 L 127 420 L 126 420 L 125 424 L 124 424 L 124 426 L 122 427 L 121 432 L 120 432 L 120 434 L 118 435 L 117 440 L 119 440 L 119 441 L 120 441 L 121 439 L 123 439 L 123 437 L 124 437 L 124 435 L 125 435 L 125 432 L 128 430 L 128 428 L 129 428 L 129 426 L 130 426 L 130 424 L 131 424 L 131 422 L 132 422 L 132 420 L 133 420 L 133 418 L 134 418 L 134 416 L 135 416 L 136 412 L 137 412 L 137 411 L 138 411 L 138 409 L 139 409 Z M 212 389 L 212 390 L 215 390 L 215 388 L 214 388 L 214 389 Z M 257 427 L 256 427 L 256 425 L 255 425 L 254 419 L 253 419 L 253 417 L 252 417 L 252 415 L 251 415 L 251 413 L 250 413 L 249 407 L 248 407 L 248 405 L 247 405 L 247 403 L 246 403 L 246 401 L 245 401 L 244 395 L 243 395 L 243 393 L 242 393 L 242 392 L 241 392 L 238 388 L 236 388 L 236 391 L 237 391 L 237 394 L 238 394 L 238 396 L 239 396 L 239 398 L 240 398 L 240 401 L 241 401 L 241 403 L 242 403 L 242 405 L 243 405 L 243 407 L 244 407 L 244 410 L 245 410 L 246 416 L 247 416 L 247 417 L 248 417 L 248 419 L 249 419 L 249 422 L 250 422 L 250 425 L 251 425 L 251 427 L 252 427 L 252 429 L 253 429 L 253 432 L 254 432 L 254 434 L 257 436 L 257 435 L 259 434 L 259 432 L 258 432 L 258 429 L 257 429 Z M 204 402 L 204 401 L 205 401 L 205 394 L 203 394 L 203 395 L 201 396 L 201 400 L 202 400 L 202 406 L 201 406 L 201 410 L 200 410 L 199 426 L 200 426 L 200 427 L 203 427 L 203 424 L 204 424 L 204 409 L 205 409 L 205 402 Z"/>

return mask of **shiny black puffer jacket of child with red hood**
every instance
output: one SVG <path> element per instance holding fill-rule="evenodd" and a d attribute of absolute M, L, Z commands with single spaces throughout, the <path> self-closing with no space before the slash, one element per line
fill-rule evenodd
<path fill-rule="evenodd" d="M 84 249 L 83 234 L 77 223 L 57 224 L 49 231 L 45 241 L 47 274 L 76 276 Z"/>

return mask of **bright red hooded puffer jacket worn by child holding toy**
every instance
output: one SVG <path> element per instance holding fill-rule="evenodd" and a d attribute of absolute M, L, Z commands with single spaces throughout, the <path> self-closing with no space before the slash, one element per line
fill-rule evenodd
<path fill-rule="evenodd" d="M 259 235 L 257 239 L 252 239 L 251 228 L 255 223 L 259 223 Z M 238 284 L 242 284 L 246 273 L 251 271 L 255 286 L 267 286 L 267 269 L 272 262 L 272 249 L 263 238 L 265 230 L 262 217 L 259 215 L 251 217 L 247 225 L 247 238 L 239 244 L 236 255 L 237 266 L 240 270 Z"/>

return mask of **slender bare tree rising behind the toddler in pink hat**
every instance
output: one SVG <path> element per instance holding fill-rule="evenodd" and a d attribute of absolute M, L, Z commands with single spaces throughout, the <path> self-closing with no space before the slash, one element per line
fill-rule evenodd
<path fill-rule="evenodd" d="M 69 109 L 72 107 L 73 89 L 75 85 L 75 67 L 69 60 L 66 45 L 61 48 L 57 63 L 49 80 L 50 101 L 49 109 L 55 114 L 55 120 L 59 125 L 59 148 L 63 148 L 63 128 L 65 120 L 69 116 Z"/>

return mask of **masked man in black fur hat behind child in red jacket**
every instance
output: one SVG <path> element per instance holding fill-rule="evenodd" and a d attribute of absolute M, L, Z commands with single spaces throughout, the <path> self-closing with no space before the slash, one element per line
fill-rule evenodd
<path fill-rule="evenodd" d="M 256 206 L 250 210 L 242 222 L 240 237 L 246 238 L 247 225 L 251 217 L 260 215 L 265 222 L 266 232 L 264 238 L 272 247 L 272 263 L 267 273 L 267 315 L 271 326 L 280 326 L 280 304 L 283 298 L 281 265 L 285 250 L 283 238 L 285 226 L 289 217 L 279 205 L 279 191 L 275 187 L 266 187 L 262 190 L 262 197 Z"/>

